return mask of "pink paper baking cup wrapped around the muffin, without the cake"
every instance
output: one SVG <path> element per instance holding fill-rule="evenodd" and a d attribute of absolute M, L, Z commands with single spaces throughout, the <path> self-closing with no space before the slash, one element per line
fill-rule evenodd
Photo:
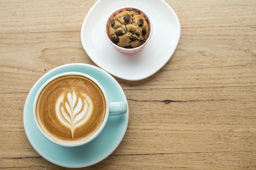
<path fill-rule="evenodd" d="M 141 15 L 143 15 L 146 19 L 147 19 L 147 22 L 148 22 L 148 27 L 149 27 L 149 35 L 148 35 L 148 38 L 146 40 L 146 42 L 144 42 L 143 44 L 141 44 L 140 46 L 138 47 L 135 47 L 133 49 L 126 49 L 124 47 L 121 47 L 121 46 L 118 46 L 117 44 L 113 43 L 111 40 L 110 40 L 110 35 L 109 35 L 109 31 L 108 31 L 108 28 L 111 24 L 111 21 L 113 20 L 113 18 L 115 17 L 115 15 L 123 12 L 123 11 L 128 11 L 129 9 L 137 9 Z M 148 41 L 150 40 L 151 38 L 151 35 L 152 35 L 152 29 L 153 29 L 153 25 L 152 25 L 152 22 L 150 20 L 150 18 L 148 17 L 148 15 L 146 15 L 146 13 L 139 9 L 139 8 L 136 8 L 136 7 L 123 7 L 123 8 L 120 8 L 120 9 L 117 9 L 116 11 L 112 12 L 110 14 L 110 16 L 108 17 L 107 21 L 106 21 L 106 24 L 105 24 L 105 27 L 104 27 L 104 32 L 105 32 L 105 35 L 106 35 L 106 38 L 108 40 L 108 42 L 110 42 L 110 44 L 112 44 L 113 46 L 115 46 L 115 48 L 118 50 L 118 51 L 121 51 L 123 53 L 127 53 L 127 54 L 131 54 L 131 53 L 135 53 L 139 50 L 141 50 L 147 43 Z"/>

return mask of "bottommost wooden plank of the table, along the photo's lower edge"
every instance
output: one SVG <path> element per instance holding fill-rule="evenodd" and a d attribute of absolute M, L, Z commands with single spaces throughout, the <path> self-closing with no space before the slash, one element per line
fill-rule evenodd
<path fill-rule="evenodd" d="M 83 170 L 254 170 L 256 163 L 252 157 L 255 152 L 206 152 L 181 154 L 152 154 L 152 155 L 111 155 L 100 163 Z M 3 168 L 8 169 L 38 169 L 38 170 L 67 170 L 41 157 L 4 158 Z M 10 166 L 11 165 L 11 166 Z M 81 168 L 74 168 L 80 170 Z"/>

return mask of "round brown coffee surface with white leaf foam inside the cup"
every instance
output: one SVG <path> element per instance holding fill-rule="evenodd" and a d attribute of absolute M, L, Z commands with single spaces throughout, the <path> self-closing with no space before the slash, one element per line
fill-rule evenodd
<path fill-rule="evenodd" d="M 39 126 L 49 137 L 62 143 L 76 143 L 99 129 L 106 114 L 106 101 L 91 79 L 64 75 L 43 88 L 35 111 Z"/>

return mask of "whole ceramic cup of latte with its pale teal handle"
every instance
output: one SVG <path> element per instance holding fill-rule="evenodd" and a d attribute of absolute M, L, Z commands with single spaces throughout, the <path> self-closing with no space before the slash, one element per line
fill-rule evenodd
<path fill-rule="evenodd" d="M 103 86 L 80 72 L 49 78 L 33 103 L 38 130 L 54 144 L 67 147 L 87 144 L 103 130 L 109 116 L 126 112 L 125 102 L 109 102 Z"/>

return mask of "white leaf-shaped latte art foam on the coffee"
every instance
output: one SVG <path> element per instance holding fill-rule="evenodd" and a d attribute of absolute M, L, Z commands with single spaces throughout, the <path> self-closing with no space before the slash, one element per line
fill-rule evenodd
<path fill-rule="evenodd" d="M 76 127 L 83 125 L 92 114 L 92 101 L 86 94 L 63 93 L 56 102 L 56 115 L 62 124 L 70 128 L 72 139 Z"/>

